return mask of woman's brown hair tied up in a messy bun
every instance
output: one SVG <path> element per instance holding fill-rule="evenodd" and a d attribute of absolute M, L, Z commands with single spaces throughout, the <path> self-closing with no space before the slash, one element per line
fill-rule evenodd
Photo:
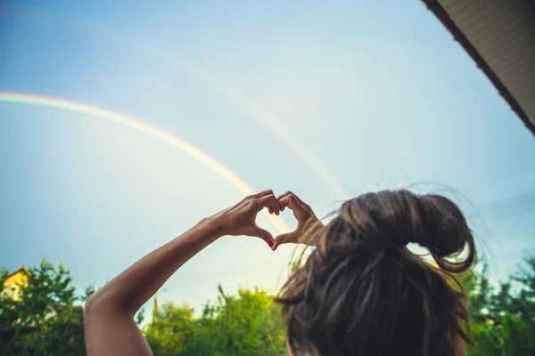
<path fill-rule="evenodd" d="M 450 356 L 458 337 L 472 344 L 456 275 L 474 263 L 473 233 L 449 198 L 367 193 L 307 239 L 316 248 L 276 298 L 295 355 Z"/>

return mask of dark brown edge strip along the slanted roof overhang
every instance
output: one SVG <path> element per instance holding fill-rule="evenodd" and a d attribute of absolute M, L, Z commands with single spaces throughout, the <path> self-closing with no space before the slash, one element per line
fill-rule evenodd
<path fill-rule="evenodd" d="M 509 104 L 509 107 L 514 111 L 514 113 L 520 117 L 523 121 L 523 124 L 531 131 L 531 134 L 535 136 L 535 124 L 531 122 L 530 117 L 522 109 L 522 106 L 514 99 L 514 96 L 506 88 L 506 85 L 498 78 L 496 73 L 490 69 L 489 64 L 481 57 L 481 54 L 477 52 L 473 44 L 468 40 L 463 31 L 457 28 L 457 25 L 449 17 L 449 13 L 442 7 L 438 0 L 422 0 L 427 6 L 427 9 L 430 10 L 437 19 L 442 22 L 444 27 L 448 28 L 449 32 L 453 38 L 457 41 L 458 44 L 461 44 L 465 49 L 466 53 L 472 57 L 475 64 L 485 75 L 489 78 L 490 82 L 498 89 L 498 93 L 504 100 Z"/>

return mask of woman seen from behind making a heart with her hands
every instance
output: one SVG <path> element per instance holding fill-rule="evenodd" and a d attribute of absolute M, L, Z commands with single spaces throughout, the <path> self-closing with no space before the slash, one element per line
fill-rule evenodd
<path fill-rule="evenodd" d="M 256 225 L 263 208 L 279 214 L 286 207 L 296 231 L 273 239 Z M 151 355 L 136 311 L 193 255 L 226 235 L 258 237 L 273 250 L 288 242 L 315 247 L 276 298 L 290 355 L 465 355 L 470 340 L 461 323 L 468 320 L 454 274 L 473 264 L 473 235 L 451 200 L 407 190 L 348 200 L 326 225 L 292 192 L 276 198 L 271 190 L 203 219 L 89 299 L 87 355 Z M 427 248 L 434 263 L 408 243 Z"/>

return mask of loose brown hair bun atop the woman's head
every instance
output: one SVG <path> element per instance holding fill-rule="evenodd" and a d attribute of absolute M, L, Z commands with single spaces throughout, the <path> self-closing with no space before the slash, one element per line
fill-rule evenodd
<path fill-rule="evenodd" d="M 413 242 L 427 248 L 435 261 L 449 271 L 464 271 L 473 263 L 472 231 L 464 214 L 449 198 L 383 190 L 347 201 L 340 218 L 358 236 L 358 245 L 399 248 Z M 466 246 L 469 251 L 464 262 L 446 261 L 445 257 L 460 254 Z"/>

